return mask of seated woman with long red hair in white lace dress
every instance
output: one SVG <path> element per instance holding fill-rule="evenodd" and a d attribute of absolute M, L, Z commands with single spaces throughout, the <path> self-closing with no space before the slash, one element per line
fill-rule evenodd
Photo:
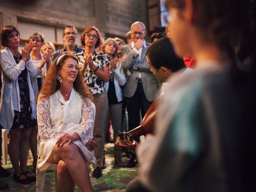
<path fill-rule="evenodd" d="M 58 163 L 57 191 L 74 191 L 74 183 L 82 192 L 93 191 L 87 167 L 96 168 L 93 98 L 79 70 L 74 56 L 59 56 L 38 96 L 38 170 L 47 169 L 46 162 Z"/>

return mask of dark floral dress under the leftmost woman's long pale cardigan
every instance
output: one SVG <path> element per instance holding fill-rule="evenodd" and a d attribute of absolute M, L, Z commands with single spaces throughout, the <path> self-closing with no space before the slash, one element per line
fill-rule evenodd
<path fill-rule="evenodd" d="M 22 59 L 14 57 L 15 62 L 18 64 Z M 11 129 L 15 128 L 30 128 L 37 125 L 36 119 L 32 114 L 32 108 L 30 106 L 29 87 L 27 79 L 27 68 L 20 73 L 18 77 L 18 84 L 20 88 L 20 112 L 14 110 L 14 118 Z"/>

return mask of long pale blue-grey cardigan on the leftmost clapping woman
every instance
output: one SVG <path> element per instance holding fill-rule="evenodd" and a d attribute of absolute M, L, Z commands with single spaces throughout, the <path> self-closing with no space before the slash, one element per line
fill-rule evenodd
<path fill-rule="evenodd" d="M 20 52 L 21 54 L 21 52 Z M 20 112 L 20 88 L 18 84 L 18 76 L 27 68 L 27 79 L 30 95 L 30 106 L 32 108 L 32 114 L 36 118 L 36 103 L 35 97 L 30 83 L 30 77 L 36 75 L 36 68 L 32 64 L 30 59 L 28 62 L 20 60 L 16 64 L 12 52 L 6 48 L 1 50 L 0 54 L 0 64 L 2 68 L 2 94 L 0 100 L 0 124 L 7 132 L 13 123 L 14 110 Z"/>

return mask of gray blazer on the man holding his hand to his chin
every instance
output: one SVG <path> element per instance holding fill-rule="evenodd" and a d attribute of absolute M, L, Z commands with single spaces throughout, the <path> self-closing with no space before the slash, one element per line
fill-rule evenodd
<path fill-rule="evenodd" d="M 149 44 L 146 43 L 146 47 Z M 128 54 L 126 59 L 121 60 L 122 67 L 126 75 L 127 82 L 124 85 L 123 96 L 132 97 L 138 85 L 138 77 L 141 74 L 143 90 L 147 100 L 154 101 L 158 96 L 158 90 L 161 84 L 158 82 L 146 60 L 146 48 L 142 48 L 141 59 L 137 59 L 139 54 L 136 53 L 131 44 L 122 47 L 121 55 Z"/>

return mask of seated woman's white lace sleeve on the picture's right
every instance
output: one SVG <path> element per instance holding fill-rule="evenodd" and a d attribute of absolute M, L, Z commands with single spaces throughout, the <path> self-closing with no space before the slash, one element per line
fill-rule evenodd
<path fill-rule="evenodd" d="M 92 101 L 90 98 L 83 99 L 82 106 L 82 119 L 80 127 L 77 128 L 76 132 L 79 134 L 82 139 L 82 143 L 86 145 L 90 138 L 93 138 L 92 128 L 93 119 L 92 119 Z"/>

